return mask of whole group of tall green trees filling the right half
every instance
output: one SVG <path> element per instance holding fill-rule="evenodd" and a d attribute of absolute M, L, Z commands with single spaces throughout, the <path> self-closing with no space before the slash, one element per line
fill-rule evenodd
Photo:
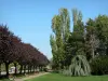
<path fill-rule="evenodd" d="M 55 15 L 52 19 L 53 33 L 50 37 L 50 41 L 53 67 L 55 69 L 67 69 L 71 67 L 70 65 L 75 66 L 73 63 L 76 63 L 78 67 L 75 67 L 73 70 L 81 68 L 80 71 L 82 71 L 85 69 L 82 64 L 87 62 L 85 65 L 89 67 L 90 64 L 93 64 L 93 66 L 90 65 L 93 68 L 95 67 L 95 58 L 102 57 L 102 55 L 107 57 L 108 55 L 108 16 L 98 15 L 96 18 L 89 18 L 84 23 L 82 22 L 82 13 L 73 9 L 72 22 L 73 29 L 70 31 L 70 16 L 67 9 L 60 9 L 58 15 Z M 83 62 L 81 58 L 85 60 Z M 97 66 L 97 68 L 99 67 Z M 105 68 L 108 71 L 108 67 L 105 66 Z M 90 72 L 90 70 L 87 71 Z M 77 71 L 79 70 L 77 69 Z M 93 69 L 92 72 L 94 72 Z M 83 75 L 86 73 L 83 71 Z"/>

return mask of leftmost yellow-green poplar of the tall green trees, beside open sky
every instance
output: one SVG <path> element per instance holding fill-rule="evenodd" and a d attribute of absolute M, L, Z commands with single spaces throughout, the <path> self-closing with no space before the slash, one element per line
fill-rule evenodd
<path fill-rule="evenodd" d="M 55 42 L 56 42 L 56 48 L 57 48 L 56 54 L 58 57 L 57 63 L 58 63 L 58 66 L 60 67 L 62 66 L 60 62 L 64 59 L 63 58 L 64 44 L 63 44 L 63 39 L 62 39 L 62 18 L 59 15 L 55 15 L 53 17 L 52 28 L 55 33 Z"/>

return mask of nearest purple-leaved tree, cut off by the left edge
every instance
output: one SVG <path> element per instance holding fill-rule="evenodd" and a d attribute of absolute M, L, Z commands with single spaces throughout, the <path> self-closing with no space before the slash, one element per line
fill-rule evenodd
<path fill-rule="evenodd" d="M 5 64 L 6 77 L 9 76 L 9 64 L 13 62 L 13 37 L 6 26 L 0 25 L 0 54 L 2 62 Z"/>

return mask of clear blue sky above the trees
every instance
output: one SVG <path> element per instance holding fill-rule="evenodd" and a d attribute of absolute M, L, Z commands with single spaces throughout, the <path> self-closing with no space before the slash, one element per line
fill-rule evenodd
<path fill-rule="evenodd" d="M 0 0 L 0 24 L 51 58 L 52 18 L 60 8 L 68 9 L 70 17 L 71 9 L 78 9 L 84 22 L 98 14 L 108 15 L 108 0 Z"/>

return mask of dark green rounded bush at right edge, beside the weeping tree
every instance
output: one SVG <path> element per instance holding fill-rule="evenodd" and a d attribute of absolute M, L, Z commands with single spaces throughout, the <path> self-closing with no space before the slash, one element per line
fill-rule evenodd
<path fill-rule="evenodd" d="M 91 62 L 93 75 L 108 75 L 108 56 L 98 56 Z"/>

